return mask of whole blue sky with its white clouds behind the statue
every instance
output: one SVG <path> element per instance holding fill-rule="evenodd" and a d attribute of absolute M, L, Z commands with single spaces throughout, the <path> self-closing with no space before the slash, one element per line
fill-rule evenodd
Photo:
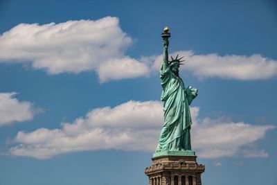
<path fill-rule="evenodd" d="M 277 184 L 277 3 L 1 1 L 0 185 L 147 184 L 164 26 L 203 184 Z M 119 169 L 119 170 L 118 170 Z"/>

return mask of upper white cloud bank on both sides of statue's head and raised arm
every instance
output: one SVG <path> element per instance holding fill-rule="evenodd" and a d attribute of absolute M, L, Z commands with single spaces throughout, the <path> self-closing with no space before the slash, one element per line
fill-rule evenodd
<path fill-rule="evenodd" d="M 0 62 L 30 63 L 49 75 L 95 71 L 100 82 L 147 77 L 159 71 L 162 56 L 132 58 L 126 54 L 132 43 L 117 17 L 19 24 L 0 35 Z M 177 53 L 186 60 L 181 69 L 199 79 L 261 80 L 277 75 L 277 61 L 260 54 L 201 55 L 178 51 L 172 55 Z"/>

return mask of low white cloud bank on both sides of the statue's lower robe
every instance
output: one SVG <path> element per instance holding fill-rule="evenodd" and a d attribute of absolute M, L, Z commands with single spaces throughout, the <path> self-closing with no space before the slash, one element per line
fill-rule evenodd
<path fill-rule="evenodd" d="M 232 157 L 262 139 L 272 125 L 233 123 L 222 119 L 199 119 L 199 107 L 191 107 L 193 149 L 199 157 Z M 93 109 L 60 129 L 40 128 L 18 132 L 10 148 L 16 156 L 47 159 L 66 152 L 84 150 L 143 150 L 154 152 L 163 123 L 162 104 L 158 101 L 129 101 L 114 108 Z M 265 151 L 262 152 L 264 154 Z M 263 155 L 245 157 L 264 157 Z"/>

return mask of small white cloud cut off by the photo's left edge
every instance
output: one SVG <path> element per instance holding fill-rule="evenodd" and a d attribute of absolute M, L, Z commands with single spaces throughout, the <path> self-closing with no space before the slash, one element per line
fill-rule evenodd
<path fill-rule="evenodd" d="M 30 121 L 34 116 L 32 103 L 19 102 L 15 92 L 0 93 L 0 127 L 14 122 Z"/>

